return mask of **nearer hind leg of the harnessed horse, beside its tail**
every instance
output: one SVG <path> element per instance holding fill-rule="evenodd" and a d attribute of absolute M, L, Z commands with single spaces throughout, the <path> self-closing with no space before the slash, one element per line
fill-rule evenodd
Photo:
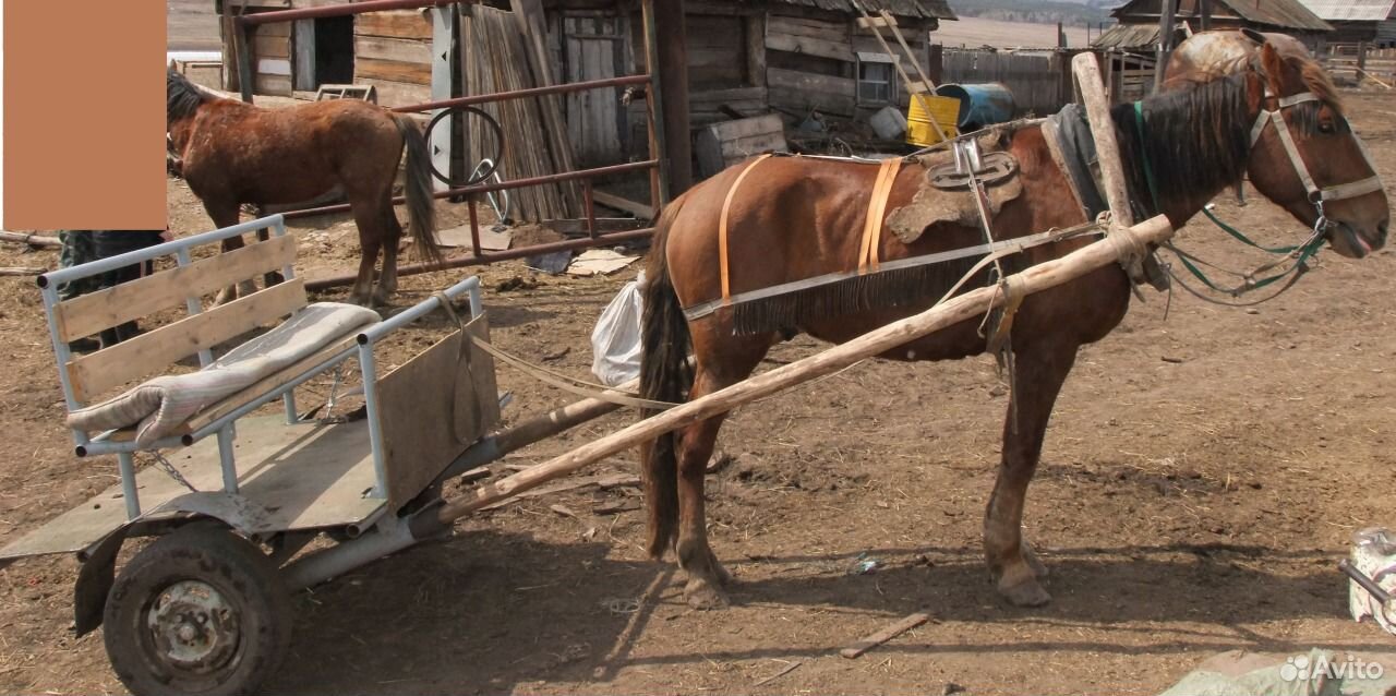
<path fill-rule="evenodd" d="M 704 351 L 702 341 L 695 338 L 695 354 L 699 355 L 698 373 L 690 391 L 690 400 L 704 394 L 711 394 L 723 387 L 734 384 L 755 369 L 761 358 L 769 349 L 771 341 L 765 337 L 733 338 L 722 347 L 722 359 L 715 359 Z M 706 355 L 706 359 L 704 356 Z M 704 477 L 708 472 L 708 460 L 712 457 L 713 444 L 718 442 L 718 430 L 722 428 L 727 414 L 715 415 L 706 421 L 697 422 L 678 435 L 678 567 L 688 573 L 688 584 L 684 586 L 684 598 L 690 607 L 711 609 L 727 604 L 727 597 L 722 586 L 727 584 L 732 576 L 727 573 L 718 556 L 708 545 L 706 510 L 704 500 Z"/>

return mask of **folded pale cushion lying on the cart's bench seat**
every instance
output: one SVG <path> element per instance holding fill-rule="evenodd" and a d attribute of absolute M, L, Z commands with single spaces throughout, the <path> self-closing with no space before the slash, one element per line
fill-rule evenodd
<path fill-rule="evenodd" d="M 165 375 L 68 414 L 68 428 L 88 433 L 137 426 L 135 444 L 149 447 L 173 435 L 194 414 L 317 351 L 378 321 L 356 305 L 317 302 L 198 372 Z"/>

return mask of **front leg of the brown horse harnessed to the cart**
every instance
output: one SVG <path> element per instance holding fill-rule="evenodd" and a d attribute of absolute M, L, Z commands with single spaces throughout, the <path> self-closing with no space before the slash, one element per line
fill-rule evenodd
<path fill-rule="evenodd" d="M 1019 607 L 1051 601 L 1041 586 L 1047 569 L 1022 537 L 1023 502 L 1041 457 L 1053 404 L 1075 361 L 1074 344 L 1034 345 L 1013 355 L 1015 389 L 1004 425 L 1004 454 L 984 513 L 984 556 L 1000 594 Z"/>

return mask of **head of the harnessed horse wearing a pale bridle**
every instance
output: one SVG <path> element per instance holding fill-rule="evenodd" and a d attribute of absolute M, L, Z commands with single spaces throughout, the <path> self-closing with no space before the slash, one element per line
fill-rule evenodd
<path fill-rule="evenodd" d="M 1333 81 L 1307 52 L 1265 39 L 1249 67 L 1248 176 L 1266 198 L 1361 259 L 1386 243 L 1390 205 L 1365 147 L 1343 115 Z"/>

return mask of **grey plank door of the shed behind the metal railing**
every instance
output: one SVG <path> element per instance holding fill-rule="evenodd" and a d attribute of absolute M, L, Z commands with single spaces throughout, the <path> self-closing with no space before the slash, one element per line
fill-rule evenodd
<path fill-rule="evenodd" d="M 625 74 L 625 28 L 620 17 L 564 17 L 563 56 L 567 81 L 606 80 Z M 624 161 L 625 109 L 620 88 L 568 92 L 567 136 L 581 166 Z"/>

